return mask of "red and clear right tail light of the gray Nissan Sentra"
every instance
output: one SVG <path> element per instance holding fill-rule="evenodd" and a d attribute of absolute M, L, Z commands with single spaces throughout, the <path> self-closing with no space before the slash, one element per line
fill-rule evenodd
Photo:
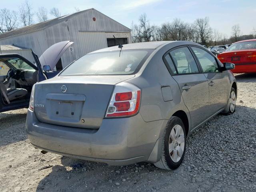
<path fill-rule="evenodd" d="M 121 82 L 116 84 L 108 104 L 106 117 L 127 117 L 137 114 L 140 106 L 140 88 Z"/>

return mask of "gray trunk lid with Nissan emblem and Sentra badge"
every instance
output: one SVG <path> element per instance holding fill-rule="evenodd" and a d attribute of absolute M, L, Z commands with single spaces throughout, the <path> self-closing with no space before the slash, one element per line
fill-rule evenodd
<path fill-rule="evenodd" d="M 114 85 L 134 76 L 57 76 L 37 83 L 34 112 L 40 122 L 98 129 Z"/>

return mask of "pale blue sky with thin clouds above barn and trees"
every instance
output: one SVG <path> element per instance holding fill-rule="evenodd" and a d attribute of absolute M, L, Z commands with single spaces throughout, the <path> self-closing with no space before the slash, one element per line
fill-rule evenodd
<path fill-rule="evenodd" d="M 18 10 L 24 0 L 3 0 L 0 8 Z M 184 22 L 194 22 L 196 18 L 209 17 L 210 26 L 228 37 L 232 26 L 239 24 L 242 34 L 251 34 L 256 28 L 256 0 L 42 0 L 32 1 L 33 10 L 43 6 L 50 10 L 57 7 L 62 14 L 95 8 L 110 18 L 130 28 L 136 24 L 141 14 L 146 13 L 150 24 L 160 26 L 180 18 Z M 36 20 L 36 15 L 34 15 Z"/>

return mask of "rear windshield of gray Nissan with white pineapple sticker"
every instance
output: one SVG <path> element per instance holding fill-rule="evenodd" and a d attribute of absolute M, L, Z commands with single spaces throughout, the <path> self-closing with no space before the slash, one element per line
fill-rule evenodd
<path fill-rule="evenodd" d="M 59 76 L 135 74 L 152 52 L 151 49 L 140 49 L 87 54 L 70 64 Z"/>

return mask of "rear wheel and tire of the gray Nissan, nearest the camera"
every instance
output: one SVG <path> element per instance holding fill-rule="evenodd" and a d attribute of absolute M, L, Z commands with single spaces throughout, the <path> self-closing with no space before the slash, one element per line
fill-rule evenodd
<path fill-rule="evenodd" d="M 175 170 L 182 163 L 186 151 L 186 130 L 182 120 L 172 116 L 163 137 L 162 155 L 154 165 L 161 169 Z"/>

